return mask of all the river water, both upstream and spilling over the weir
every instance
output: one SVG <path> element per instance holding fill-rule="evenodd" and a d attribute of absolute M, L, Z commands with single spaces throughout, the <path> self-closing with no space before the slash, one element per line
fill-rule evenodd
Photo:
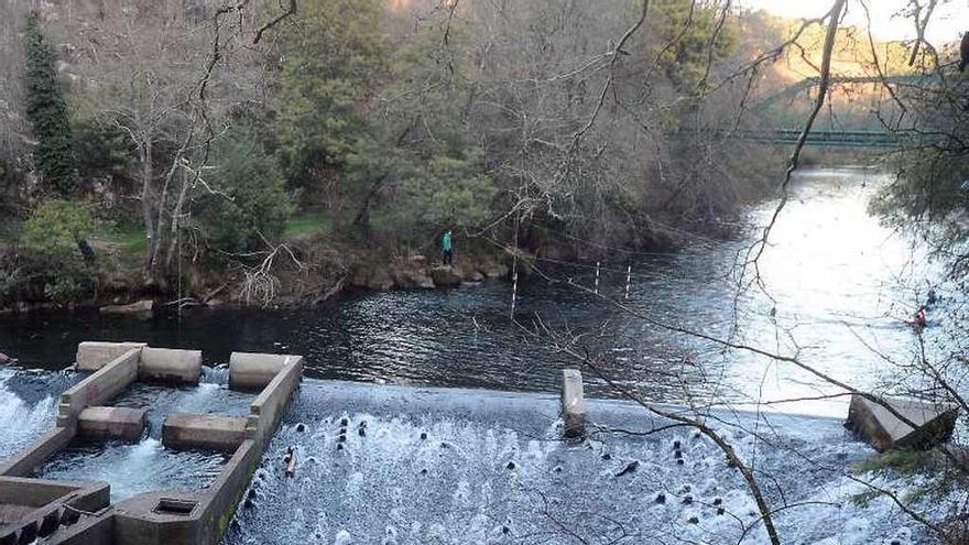
<path fill-rule="evenodd" d="M 542 261 L 541 274 L 522 285 L 514 321 L 504 283 L 347 296 L 307 310 L 195 310 L 181 319 L 0 317 L 0 350 L 24 368 L 46 370 L 0 372 L 0 455 L 53 424 L 57 395 L 78 380 L 58 371 L 73 361 L 77 342 L 197 348 L 210 367 L 198 388 L 140 386 L 118 401 L 153 407 L 141 443 L 77 445 L 39 473 L 106 479 L 116 500 L 162 487 L 203 488 L 221 457 L 166 451 L 157 440 L 164 414 L 244 414 L 249 397 L 225 384 L 229 352 L 302 353 L 309 379 L 263 459 L 229 544 L 740 539 L 755 506 L 739 475 L 708 439 L 682 428 L 614 432 L 662 423 L 608 401 L 618 395 L 609 378 L 652 401 L 709 405 L 744 459 L 776 479 L 772 502 L 802 503 L 779 515 L 780 528 L 793 536 L 785 542 L 918 543 L 918 530 L 900 523 L 890 504 L 851 501 L 865 490 L 847 470 L 871 451 L 827 417 L 843 418 L 843 399 L 805 401 L 830 389 L 790 363 L 710 340 L 796 353 L 859 388 L 897 383 L 890 361 L 908 361 L 917 349 L 905 320 L 930 265 L 867 214 L 882 183 L 865 170 L 798 176 L 769 247 L 747 266 L 747 250 L 774 203 L 754 207 L 751 228 L 736 240 L 602 262 L 601 296 L 586 290 L 595 283 L 594 263 Z M 738 280 L 753 272 L 760 282 L 740 290 Z M 591 406 L 601 429 L 589 442 L 556 440 L 560 370 L 576 361 L 549 349 L 548 335 L 530 334 L 540 323 L 599 355 L 603 378 L 587 373 L 586 391 L 603 399 Z M 727 404 L 758 412 L 734 413 Z M 683 445 L 682 465 L 674 442 Z M 300 461 L 295 479 L 281 476 L 288 446 Z M 744 543 L 763 538 L 755 526 Z"/>

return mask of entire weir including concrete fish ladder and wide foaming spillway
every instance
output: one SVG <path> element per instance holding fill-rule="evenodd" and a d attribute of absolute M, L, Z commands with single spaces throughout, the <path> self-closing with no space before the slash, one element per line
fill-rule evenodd
<path fill-rule="evenodd" d="M 556 537 L 558 520 L 592 535 L 627 533 L 631 543 L 653 543 L 671 528 L 696 542 L 739 542 L 747 533 L 737 527 L 741 520 L 754 528 L 753 542 L 764 538 L 745 483 L 712 442 L 635 404 L 586 400 L 575 369 L 558 375 L 560 395 L 309 380 L 293 399 L 301 357 L 233 353 L 222 385 L 199 390 L 210 395 L 231 384 L 249 402 L 248 414 L 196 414 L 206 408 L 167 395 L 148 403 L 135 396 L 183 412 L 161 411 L 164 418 L 156 414 L 151 436 L 133 448 L 157 448 L 160 432 L 176 464 L 200 450 L 218 453 L 210 478 L 192 477 L 195 490 L 148 488 L 112 502 L 112 487 L 97 479 L 113 484 L 115 472 L 138 472 L 141 459 L 98 461 L 108 469 L 92 480 L 70 471 L 56 480 L 57 472 L 36 469 L 76 439 L 123 442 L 132 428 L 144 430 L 143 408 L 122 405 L 133 404 L 132 391 L 159 391 L 138 383 L 155 372 L 139 369 L 146 347 L 94 348 L 100 360 L 85 345 L 78 351 L 94 374 L 64 392 L 54 429 L 0 466 L 0 544 L 37 536 L 45 544 L 94 545 L 515 543 L 530 535 L 569 543 Z M 200 366 L 197 352 L 155 351 L 164 353 L 176 356 L 159 367 L 167 370 L 166 384 L 184 382 L 173 361 L 190 362 L 189 374 L 188 367 Z M 840 471 L 871 450 L 840 421 L 714 411 L 710 422 L 742 458 L 756 456 L 759 470 L 775 476 L 784 495 L 769 491 L 772 502 L 807 505 L 779 511 L 779 527 L 792 541 L 824 543 L 865 517 L 868 537 L 918 543 L 891 525 L 890 509 L 847 501 L 859 490 Z M 770 433 L 754 440 L 760 427 Z M 792 457 L 792 445 L 810 460 Z M 190 453 L 175 453 L 182 449 Z M 146 480 L 173 487 L 164 475 Z"/>

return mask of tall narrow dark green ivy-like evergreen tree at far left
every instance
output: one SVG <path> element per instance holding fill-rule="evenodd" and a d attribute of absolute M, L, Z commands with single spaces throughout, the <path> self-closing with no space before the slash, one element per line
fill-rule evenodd
<path fill-rule="evenodd" d="M 26 115 L 37 141 L 34 166 L 47 192 L 67 195 L 74 188 L 75 165 L 67 103 L 54 68 L 54 51 L 31 13 L 24 30 Z"/>

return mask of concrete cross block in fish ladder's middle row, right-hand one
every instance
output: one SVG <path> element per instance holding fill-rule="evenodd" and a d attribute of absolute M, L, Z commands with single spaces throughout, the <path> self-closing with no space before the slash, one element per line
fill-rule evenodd
<path fill-rule="evenodd" d="M 162 444 L 168 448 L 231 453 L 244 439 L 246 418 L 173 413 L 162 423 Z"/>

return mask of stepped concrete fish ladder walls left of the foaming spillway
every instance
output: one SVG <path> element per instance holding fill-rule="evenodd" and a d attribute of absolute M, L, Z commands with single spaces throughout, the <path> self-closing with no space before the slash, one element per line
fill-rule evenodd
<path fill-rule="evenodd" d="M 303 374 L 303 358 L 233 352 L 229 388 L 254 392 L 244 417 L 168 413 L 171 449 L 225 453 L 200 491 L 159 490 L 111 503 L 110 484 L 32 477 L 73 442 L 138 442 L 146 408 L 108 405 L 137 382 L 197 385 L 202 352 L 135 342 L 81 342 L 77 370 L 91 372 L 61 396 L 55 427 L 0 464 L 0 545 L 216 544 L 225 534 Z"/>

